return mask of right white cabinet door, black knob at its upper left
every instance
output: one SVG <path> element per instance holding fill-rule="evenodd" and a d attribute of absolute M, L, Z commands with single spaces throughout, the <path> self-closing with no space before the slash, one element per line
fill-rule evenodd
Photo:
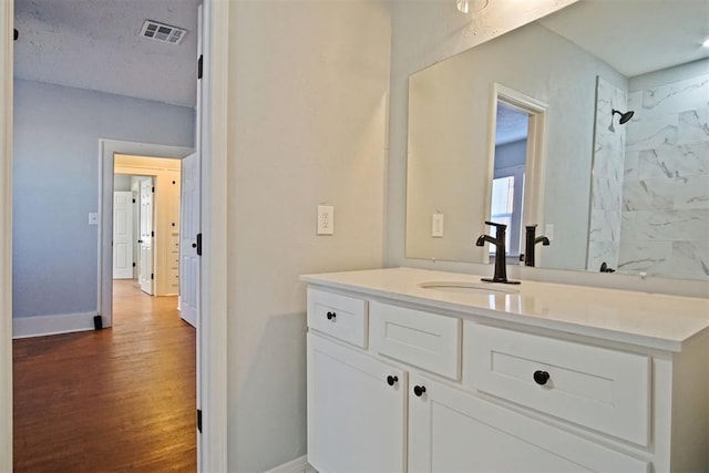
<path fill-rule="evenodd" d="M 428 378 L 412 376 L 409 385 L 409 471 L 649 471 L 647 462 Z"/>

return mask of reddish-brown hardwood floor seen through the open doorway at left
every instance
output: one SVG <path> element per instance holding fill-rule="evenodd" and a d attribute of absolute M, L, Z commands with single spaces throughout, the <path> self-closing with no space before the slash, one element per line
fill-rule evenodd
<path fill-rule="evenodd" d="M 16 472 L 196 471 L 195 329 L 114 281 L 114 325 L 13 341 Z"/>

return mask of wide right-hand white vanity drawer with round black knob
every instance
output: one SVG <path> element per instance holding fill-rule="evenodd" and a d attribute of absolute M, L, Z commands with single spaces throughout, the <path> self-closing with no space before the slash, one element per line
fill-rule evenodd
<path fill-rule="evenodd" d="M 647 445 L 650 358 L 465 322 L 463 383 Z"/>

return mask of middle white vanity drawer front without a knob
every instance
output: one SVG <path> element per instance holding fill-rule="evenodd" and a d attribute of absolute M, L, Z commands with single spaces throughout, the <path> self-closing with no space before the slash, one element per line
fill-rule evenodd
<path fill-rule="evenodd" d="M 461 377 L 461 320 L 370 302 L 372 350 L 443 377 Z"/>

